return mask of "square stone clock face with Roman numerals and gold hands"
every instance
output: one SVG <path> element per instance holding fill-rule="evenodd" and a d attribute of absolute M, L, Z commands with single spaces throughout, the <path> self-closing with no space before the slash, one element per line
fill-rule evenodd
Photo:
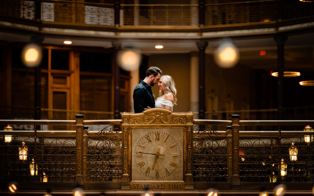
<path fill-rule="evenodd" d="M 180 131 L 181 130 L 181 131 Z M 132 180 L 183 178 L 183 129 L 132 130 Z"/>

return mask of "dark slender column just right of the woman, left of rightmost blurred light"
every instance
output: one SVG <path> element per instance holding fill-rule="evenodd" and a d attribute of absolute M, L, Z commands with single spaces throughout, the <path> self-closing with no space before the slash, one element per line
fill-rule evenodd
<path fill-rule="evenodd" d="M 198 118 L 205 119 L 205 49 L 207 41 L 196 42 L 198 47 Z"/>

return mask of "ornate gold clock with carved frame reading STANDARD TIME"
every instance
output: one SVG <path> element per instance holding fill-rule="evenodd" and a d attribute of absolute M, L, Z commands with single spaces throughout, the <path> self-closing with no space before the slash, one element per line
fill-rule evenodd
<path fill-rule="evenodd" d="M 121 189 L 193 189 L 193 114 L 153 108 L 122 114 Z"/>

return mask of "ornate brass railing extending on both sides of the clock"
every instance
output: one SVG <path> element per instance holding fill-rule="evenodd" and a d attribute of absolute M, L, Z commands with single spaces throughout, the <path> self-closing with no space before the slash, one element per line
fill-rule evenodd
<path fill-rule="evenodd" d="M 122 120 L 0 120 L 34 125 L 32 131 L 0 131 L 1 182 L 111 182 L 122 178 Z M 70 126 L 72 131 L 40 131 L 39 125 Z M 314 120 L 193 120 L 193 179 L 204 183 L 314 180 Z M 89 125 L 89 128 L 86 127 Z M 277 130 L 242 131 L 244 126 Z M 299 131 L 286 128 L 295 126 Z M 225 128 L 227 127 L 227 128 Z M 202 183 L 202 184 L 198 184 Z M 119 188 L 118 188 L 119 189 Z"/>

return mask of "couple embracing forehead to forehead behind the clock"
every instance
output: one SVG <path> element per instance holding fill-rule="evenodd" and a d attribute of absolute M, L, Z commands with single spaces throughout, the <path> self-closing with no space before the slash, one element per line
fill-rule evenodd
<path fill-rule="evenodd" d="M 150 108 L 165 108 L 172 111 L 177 101 L 175 82 L 171 76 L 161 74 L 158 67 L 149 67 L 145 79 L 134 88 L 134 113 L 141 113 Z M 155 101 L 152 87 L 156 83 L 159 87 L 159 97 Z"/>

